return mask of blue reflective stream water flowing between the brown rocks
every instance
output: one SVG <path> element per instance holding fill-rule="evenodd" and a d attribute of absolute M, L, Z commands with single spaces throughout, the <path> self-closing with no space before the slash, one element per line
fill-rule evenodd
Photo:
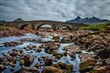
<path fill-rule="evenodd" d="M 33 38 L 33 39 L 36 39 L 36 41 L 34 41 L 34 42 L 26 41 L 26 42 L 22 42 L 20 45 L 11 46 L 11 47 L 3 46 L 3 43 L 5 43 L 5 42 L 11 42 L 11 41 L 20 42 L 20 39 L 23 39 L 23 38 Z M 40 58 L 41 56 L 50 56 L 50 57 L 52 57 L 52 54 L 46 53 L 44 51 L 44 49 L 42 49 L 42 51 L 39 52 L 39 53 L 35 52 L 34 50 L 26 51 L 26 50 L 23 49 L 23 47 L 26 47 L 29 44 L 36 45 L 36 46 L 41 45 L 42 43 L 40 43 L 39 40 L 43 41 L 43 42 L 53 41 L 52 37 L 41 37 L 41 36 L 38 36 L 38 35 L 35 35 L 35 34 L 31 34 L 31 33 L 27 33 L 24 36 L 19 36 L 19 37 L 18 36 L 10 36 L 10 37 L 0 38 L 0 57 L 3 56 L 2 53 L 8 54 L 9 51 L 11 51 L 14 48 L 16 48 L 18 50 L 23 50 L 26 54 L 31 54 L 31 55 L 37 57 L 37 58 L 34 59 L 34 62 L 29 67 L 31 69 L 36 63 L 38 63 L 38 58 Z M 65 47 L 67 45 L 71 45 L 71 44 L 74 45 L 74 42 L 72 42 L 72 43 L 61 43 L 60 47 L 57 50 L 57 52 L 58 53 L 65 52 L 63 50 L 63 47 Z M 79 64 L 80 64 L 79 54 L 75 55 L 75 59 L 74 60 L 71 60 L 71 57 L 69 55 L 67 55 L 67 56 L 63 56 L 57 62 L 63 62 L 63 63 L 66 63 L 66 64 L 72 64 L 74 66 L 73 71 L 75 71 L 76 73 L 79 73 Z M 53 61 L 54 64 L 56 64 L 57 62 Z M 44 65 L 44 67 L 45 67 L 45 65 Z M 16 61 L 15 71 L 17 71 L 19 69 L 21 69 L 20 63 L 19 63 L 19 61 Z M 43 68 L 40 68 L 40 71 L 42 71 L 42 70 L 43 70 Z M 11 70 L 10 70 L 10 65 L 7 66 L 7 69 L 5 69 L 3 73 L 12 73 Z"/>

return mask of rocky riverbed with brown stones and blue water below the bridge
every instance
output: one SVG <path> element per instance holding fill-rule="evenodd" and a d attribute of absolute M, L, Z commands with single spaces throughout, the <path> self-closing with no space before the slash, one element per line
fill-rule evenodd
<path fill-rule="evenodd" d="M 12 32 L 12 31 L 15 32 Z M 68 34 L 67 34 L 68 33 Z M 3 73 L 109 73 L 110 32 L 0 31 Z"/>

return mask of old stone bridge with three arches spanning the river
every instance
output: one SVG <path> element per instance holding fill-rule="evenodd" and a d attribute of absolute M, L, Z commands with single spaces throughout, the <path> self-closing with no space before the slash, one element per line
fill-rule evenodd
<path fill-rule="evenodd" d="M 16 21 L 16 22 L 5 22 L 6 26 L 13 26 L 19 29 L 24 29 L 25 27 L 31 27 L 33 30 L 38 30 L 43 25 L 50 25 L 54 31 L 59 30 L 62 27 L 66 27 L 70 31 L 77 30 L 80 24 L 76 23 L 66 23 L 59 21 L 48 21 L 48 20 L 39 20 L 39 21 Z"/>

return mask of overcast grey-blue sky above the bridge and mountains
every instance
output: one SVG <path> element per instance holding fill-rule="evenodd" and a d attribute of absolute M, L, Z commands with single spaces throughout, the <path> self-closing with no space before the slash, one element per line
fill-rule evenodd
<path fill-rule="evenodd" d="M 110 0 L 0 0 L 0 20 L 67 21 L 77 16 L 110 20 Z"/>

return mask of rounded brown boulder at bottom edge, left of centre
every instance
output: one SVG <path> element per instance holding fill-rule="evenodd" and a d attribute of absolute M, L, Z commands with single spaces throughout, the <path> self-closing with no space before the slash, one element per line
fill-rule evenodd
<path fill-rule="evenodd" d="M 58 69 L 53 66 L 47 66 L 42 73 L 63 73 L 61 69 Z"/>

